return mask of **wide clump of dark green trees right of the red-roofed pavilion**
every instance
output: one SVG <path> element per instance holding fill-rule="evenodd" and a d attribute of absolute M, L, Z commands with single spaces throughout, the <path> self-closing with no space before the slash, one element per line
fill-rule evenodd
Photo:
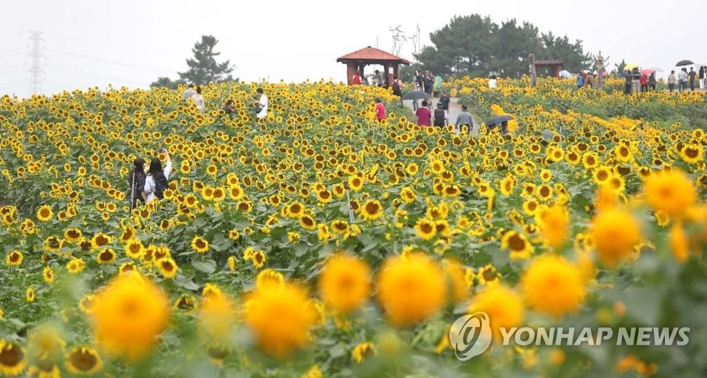
<path fill-rule="evenodd" d="M 498 25 L 488 16 L 455 16 L 450 23 L 430 33 L 433 46 L 423 47 L 416 59 L 423 69 L 440 74 L 518 77 L 527 73 L 526 59 L 559 59 L 564 69 L 579 71 L 592 63 L 582 41 L 570 42 L 564 35 L 540 33 L 532 23 L 515 18 Z"/>

